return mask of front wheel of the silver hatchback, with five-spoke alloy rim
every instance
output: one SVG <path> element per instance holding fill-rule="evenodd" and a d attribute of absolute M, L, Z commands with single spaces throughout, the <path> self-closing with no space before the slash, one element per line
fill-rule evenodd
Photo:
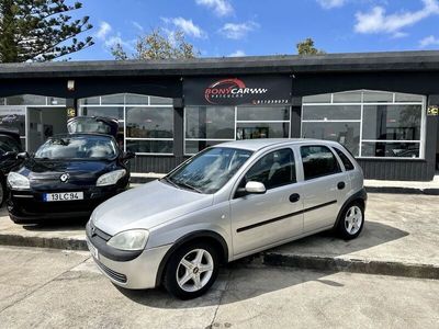
<path fill-rule="evenodd" d="M 177 298 L 196 298 L 213 285 L 218 268 L 218 251 L 212 245 L 188 243 L 170 257 L 165 270 L 164 285 Z"/>

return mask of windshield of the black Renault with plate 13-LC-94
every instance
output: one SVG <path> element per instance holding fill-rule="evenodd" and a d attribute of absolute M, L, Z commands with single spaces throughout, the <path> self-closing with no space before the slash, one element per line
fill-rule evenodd
<path fill-rule="evenodd" d="M 112 159 L 116 146 L 110 136 L 53 137 L 35 154 L 36 159 Z"/>

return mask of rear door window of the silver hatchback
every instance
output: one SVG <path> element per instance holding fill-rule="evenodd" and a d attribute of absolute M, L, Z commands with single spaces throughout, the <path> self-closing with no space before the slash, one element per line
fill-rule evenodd
<path fill-rule="evenodd" d="M 323 145 L 301 146 L 305 180 L 340 172 L 336 156 Z"/>

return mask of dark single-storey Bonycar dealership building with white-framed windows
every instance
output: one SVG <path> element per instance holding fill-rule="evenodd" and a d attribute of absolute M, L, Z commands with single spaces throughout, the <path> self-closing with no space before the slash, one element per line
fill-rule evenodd
<path fill-rule="evenodd" d="M 322 138 L 365 178 L 429 181 L 439 158 L 439 52 L 0 65 L 0 128 L 30 152 L 68 117 L 114 117 L 133 172 L 205 147 Z"/>

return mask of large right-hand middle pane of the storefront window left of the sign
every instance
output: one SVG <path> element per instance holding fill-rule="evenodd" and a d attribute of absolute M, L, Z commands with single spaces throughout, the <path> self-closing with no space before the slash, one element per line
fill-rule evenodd
<path fill-rule="evenodd" d="M 172 107 L 126 107 L 126 137 L 172 138 Z"/>

